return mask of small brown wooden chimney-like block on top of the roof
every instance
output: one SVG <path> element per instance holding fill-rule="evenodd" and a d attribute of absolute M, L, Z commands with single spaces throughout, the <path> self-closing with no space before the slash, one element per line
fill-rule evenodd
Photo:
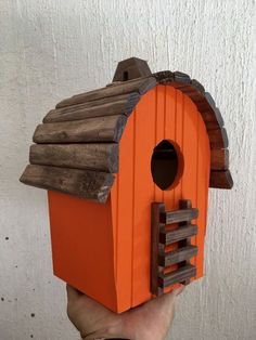
<path fill-rule="evenodd" d="M 118 63 L 113 81 L 127 81 L 139 77 L 151 76 L 146 61 L 130 57 Z"/>

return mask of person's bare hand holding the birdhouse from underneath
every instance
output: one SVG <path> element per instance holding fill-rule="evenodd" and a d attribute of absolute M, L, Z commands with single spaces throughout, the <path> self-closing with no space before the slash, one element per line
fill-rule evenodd
<path fill-rule="evenodd" d="M 164 340 L 174 319 L 175 300 L 183 288 L 116 314 L 67 285 L 67 315 L 81 339 Z"/>

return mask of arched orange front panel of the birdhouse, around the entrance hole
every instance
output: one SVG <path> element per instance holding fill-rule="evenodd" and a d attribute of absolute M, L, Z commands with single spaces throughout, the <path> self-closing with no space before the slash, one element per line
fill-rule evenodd
<path fill-rule="evenodd" d="M 163 143 L 164 141 L 164 143 Z M 162 148 L 157 149 L 157 145 Z M 172 148 L 174 147 L 174 148 Z M 174 156 L 177 154 L 175 175 Z M 171 158 L 172 156 L 172 158 Z M 154 169 L 154 164 L 161 169 Z M 136 306 L 151 298 L 149 257 L 151 249 L 151 204 L 165 202 L 167 210 L 179 209 L 180 199 L 190 199 L 200 211 L 193 222 L 199 233 L 191 239 L 197 256 L 196 278 L 203 275 L 204 236 L 209 182 L 209 141 L 195 105 L 180 91 L 158 86 L 148 92 L 129 117 L 120 141 L 119 172 L 112 188 L 113 223 L 116 232 L 116 277 L 120 309 Z M 166 187 L 154 183 L 165 175 Z M 168 183 L 168 180 L 170 183 Z M 174 224 L 170 228 L 176 227 Z M 177 244 L 166 247 L 166 251 Z M 177 265 L 166 269 L 174 271 Z M 170 290 L 170 287 L 168 290 Z"/>

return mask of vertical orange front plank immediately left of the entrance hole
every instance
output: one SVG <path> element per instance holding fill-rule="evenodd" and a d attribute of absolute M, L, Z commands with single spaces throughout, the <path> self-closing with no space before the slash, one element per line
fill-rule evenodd
<path fill-rule="evenodd" d="M 144 116 L 146 113 L 146 119 Z M 150 299 L 149 272 L 150 272 L 150 227 L 151 217 L 145 214 L 141 219 L 141 211 L 150 210 L 149 195 L 154 191 L 151 174 L 151 156 L 154 147 L 155 95 L 148 100 L 142 97 L 137 105 L 135 115 L 133 140 L 133 225 L 132 225 L 132 306 L 140 301 Z M 144 131 L 144 133 L 141 133 Z M 146 171 L 145 171 L 146 169 Z M 151 200 L 152 201 L 152 200 Z M 161 201 L 161 200 L 159 200 Z M 143 277 L 141 273 L 144 273 Z M 142 291 L 143 289 L 143 291 Z"/>

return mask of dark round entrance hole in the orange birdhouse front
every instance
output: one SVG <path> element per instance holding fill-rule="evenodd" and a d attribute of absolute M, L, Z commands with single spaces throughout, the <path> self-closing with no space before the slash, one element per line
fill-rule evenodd
<path fill-rule="evenodd" d="M 154 148 L 151 158 L 151 173 L 154 183 L 162 189 L 168 189 L 179 171 L 179 156 L 169 141 L 163 140 Z"/>

